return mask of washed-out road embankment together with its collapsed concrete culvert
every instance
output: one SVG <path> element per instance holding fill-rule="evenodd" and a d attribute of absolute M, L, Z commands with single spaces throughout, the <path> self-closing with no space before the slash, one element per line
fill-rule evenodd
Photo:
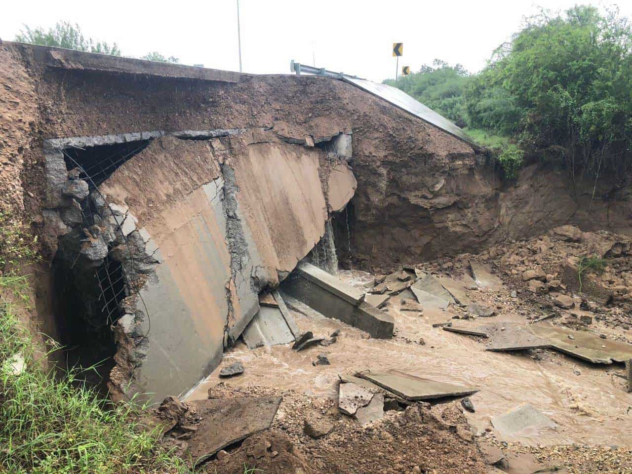
<path fill-rule="evenodd" d="M 0 61 L 0 204 L 36 216 L 43 329 L 112 361 L 121 395 L 188 391 L 328 235 L 341 265 L 386 268 L 568 221 L 628 228 L 561 173 L 507 189 L 463 137 L 358 84 L 13 43 Z"/>

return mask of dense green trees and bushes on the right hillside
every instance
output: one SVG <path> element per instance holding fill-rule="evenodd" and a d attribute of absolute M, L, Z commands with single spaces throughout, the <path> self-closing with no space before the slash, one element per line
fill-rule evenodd
<path fill-rule="evenodd" d="M 521 161 L 559 162 L 573 178 L 623 174 L 632 156 L 632 29 L 618 11 L 542 11 L 470 74 L 435 60 L 387 81 L 495 149 L 506 176 Z"/>

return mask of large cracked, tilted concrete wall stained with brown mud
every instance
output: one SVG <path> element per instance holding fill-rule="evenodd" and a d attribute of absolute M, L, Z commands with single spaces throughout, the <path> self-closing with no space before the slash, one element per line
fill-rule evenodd
<path fill-rule="evenodd" d="M 334 169 L 342 181 L 329 179 Z M 137 366 L 131 391 L 159 401 L 182 396 L 217 367 L 258 311 L 259 291 L 277 286 L 322 238 L 329 195 L 335 207 L 346 204 L 355 178 L 324 149 L 251 130 L 157 138 L 99 189 L 128 209 L 145 256 L 157 262 L 142 276 L 126 334 Z"/>

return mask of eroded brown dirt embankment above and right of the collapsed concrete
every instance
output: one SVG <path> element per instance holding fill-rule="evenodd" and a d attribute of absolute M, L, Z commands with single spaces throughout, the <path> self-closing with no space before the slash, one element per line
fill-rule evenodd
<path fill-rule="evenodd" d="M 39 137 L 272 128 L 297 143 L 353 132 L 358 191 L 347 213 L 350 254 L 339 245 L 343 264 L 349 255 L 354 267 L 380 268 L 480 250 L 567 222 L 584 230 L 631 232 L 629 205 L 608 193 L 617 183 L 600 181 L 592 204 L 593 183 L 570 191 L 564 172 L 539 165 L 523 170 L 514 185 L 503 185 L 466 143 L 348 83 L 246 75 L 238 82 L 211 82 L 70 70 L 37 63 L 27 46 L 1 48 L 8 66 L 3 95 L 16 95 L 3 98 L 3 107 L 18 100 L 30 111 L 18 119 L 3 114 L 11 140 L 2 151 L 10 162 L 3 176 L 12 173 L 15 181 L 21 175 L 21 186 L 9 187 L 3 204 L 20 209 L 24 202 L 36 221 L 44 182 Z M 19 147 L 30 147 L 23 151 L 31 156 L 27 169 L 14 156 Z"/>

